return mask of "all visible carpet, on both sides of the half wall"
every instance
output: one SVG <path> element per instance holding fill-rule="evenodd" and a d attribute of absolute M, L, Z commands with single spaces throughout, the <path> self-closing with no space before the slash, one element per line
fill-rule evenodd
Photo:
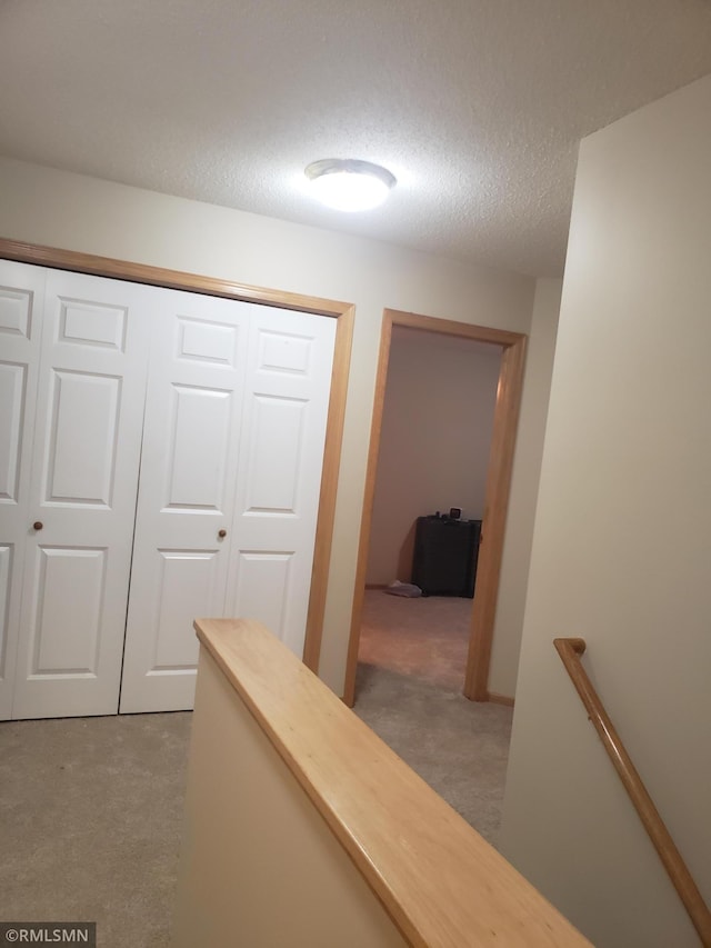
<path fill-rule="evenodd" d="M 359 668 L 356 712 L 494 841 L 511 709 L 460 693 L 453 656 L 465 656 L 471 601 L 448 600 L 438 623 L 434 598 L 368 598 L 370 663 Z M 381 635 L 382 609 L 394 621 Z M 435 645 L 440 625 L 460 628 L 448 648 Z M 100 948 L 169 946 L 190 721 L 0 722 L 0 920 L 96 921 Z"/>

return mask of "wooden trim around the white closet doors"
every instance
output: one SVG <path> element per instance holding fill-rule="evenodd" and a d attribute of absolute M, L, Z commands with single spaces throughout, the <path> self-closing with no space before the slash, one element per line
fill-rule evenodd
<path fill-rule="evenodd" d="M 0 238 L 0 259 L 17 260 L 18 262 L 33 263 L 39 267 L 52 267 L 58 270 L 72 270 L 78 273 L 91 273 L 97 277 L 109 277 L 114 280 L 129 280 L 132 283 L 148 283 L 154 287 L 188 290 L 190 292 L 223 297 L 242 302 L 257 302 L 262 306 L 274 306 L 300 312 L 311 312 L 317 316 L 330 317 L 338 320 L 336 325 L 336 346 L 333 350 L 323 466 L 321 469 L 321 491 L 313 548 L 311 590 L 303 646 L 304 663 L 312 671 L 318 672 L 331 546 L 333 541 L 336 495 L 341 446 L 343 442 L 346 393 L 356 307 L 352 303 L 322 299 L 321 297 L 270 290 L 248 283 L 238 283 L 232 280 L 222 280 L 216 277 L 186 273 L 181 270 L 168 270 L 161 267 L 149 267 L 144 263 L 132 263 L 126 260 L 116 260 L 111 257 L 97 257 L 92 253 L 79 253 L 73 250 L 42 247 L 6 238 Z"/>

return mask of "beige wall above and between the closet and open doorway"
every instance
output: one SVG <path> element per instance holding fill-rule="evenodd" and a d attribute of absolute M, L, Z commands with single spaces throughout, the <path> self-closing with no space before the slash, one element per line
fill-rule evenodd
<path fill-rule="evenodd" d="M 340 692 L 382 310 L 528 332 L 534 281 L 9 159 L 0 159 L 0 234 L 356 303 L 321 656 L 322 677 Z"/>

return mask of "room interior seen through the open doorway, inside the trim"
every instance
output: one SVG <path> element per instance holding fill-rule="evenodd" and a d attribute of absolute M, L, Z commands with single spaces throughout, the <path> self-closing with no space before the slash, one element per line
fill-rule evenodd
<path fill-rule="evenodd" d="M 501 353 L 392 328 L 357 682 L 377 667 L 463 690 Z"/>

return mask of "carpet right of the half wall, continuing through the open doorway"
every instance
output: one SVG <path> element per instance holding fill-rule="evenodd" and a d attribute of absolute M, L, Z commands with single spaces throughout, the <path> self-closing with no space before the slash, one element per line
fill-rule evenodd
<path fill-rule="evenodd" d="M 353 710 L 495 845 L 513 710 L 461 693 L 471 605 L 367 590 Z"/>

